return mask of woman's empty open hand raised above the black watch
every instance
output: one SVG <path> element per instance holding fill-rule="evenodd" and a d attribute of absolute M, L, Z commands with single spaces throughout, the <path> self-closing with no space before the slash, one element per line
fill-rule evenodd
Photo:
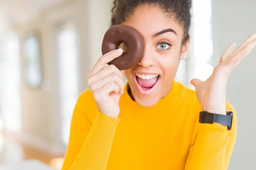
<path fill-rule="evenodd" d="M 206 80 L 193 79 L 198 102 L 203 111 L 209 113 L 226 114 L 226 88 L 230 72 L 236 65 L 256 47 L 256 34 L 250 35 L 236 50 L 236 44 L 231 44 L 221 56 L 212 75 Z M 233 52 L 234 51 L 234 52 Z"/>

